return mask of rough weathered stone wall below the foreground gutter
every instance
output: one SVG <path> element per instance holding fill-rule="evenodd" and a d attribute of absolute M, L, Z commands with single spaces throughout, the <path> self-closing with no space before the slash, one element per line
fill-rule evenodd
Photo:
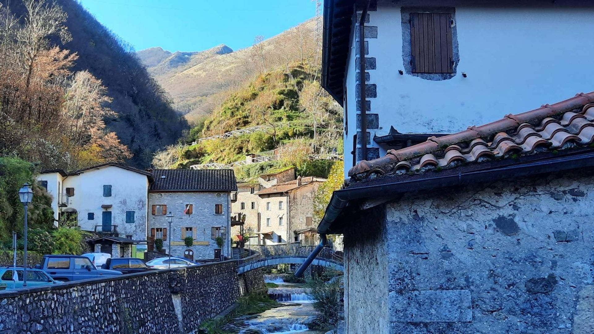
<path fill-rule="evenodd" d="M 593 171 L 359 212 L 345 230 L 347 333 L 593 333 Z"/>

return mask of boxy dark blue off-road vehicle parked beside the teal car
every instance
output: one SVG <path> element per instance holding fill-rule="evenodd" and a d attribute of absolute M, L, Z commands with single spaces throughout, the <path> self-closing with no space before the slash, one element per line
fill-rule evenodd
<path fill-rule="evenodd" d="M 62 282 L 122 275 L 115 270 L 97 269 L 89 257 L 79 255 L 44 255 L 35 268 L 43 269 L 53 279 Z"/>

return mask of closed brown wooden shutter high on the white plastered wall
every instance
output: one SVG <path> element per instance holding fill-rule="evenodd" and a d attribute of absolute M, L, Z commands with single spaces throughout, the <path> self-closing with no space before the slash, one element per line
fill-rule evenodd
<path fill-rule="evenodd" d="M 413 73 L 453 73 L 451 14 L 410 13 Z"/>

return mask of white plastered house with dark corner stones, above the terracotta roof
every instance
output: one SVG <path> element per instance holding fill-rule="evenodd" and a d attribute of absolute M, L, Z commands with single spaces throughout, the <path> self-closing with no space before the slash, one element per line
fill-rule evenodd
<path fill-rule="evenodd" d="M 325 0 L 322 85 L 345 109 L 345 176 L 389 149 L 590 91 L 594 44 L 578 36 L 592 15 L 584 0 Z"/>

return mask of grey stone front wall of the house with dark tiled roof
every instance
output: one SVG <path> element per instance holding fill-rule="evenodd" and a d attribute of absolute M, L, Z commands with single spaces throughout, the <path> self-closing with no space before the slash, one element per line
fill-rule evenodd
<path fill-rule="evenodd" d="M 185 205 L 192 205 L 192 214 L 184 214 Z M 223 213 L 215 214 L 214 206 L 223 205 Z M 163 212 L 152 214 L 153 205 L 167 205 L 167 211 L 173 214 L 173 222 L 169 230 L 169 224 Z M 214 259 L 214 251 L 219 249 L 216 241 L 212 238 L 213 227 L 225 227 L 225 246 L 223 255 L 230 257 L 230 198 L 229 192 L 149 192 L 149 237 L 158 238 L 160 230 L 167 228 L 167 237 L 163 237 L 163 249 L 169 252 L 171 243 L 171 255 L 184 257 L 187 250 L 192 250 L 193 259 Z M 184 232 L 182 229 L 192 228 L 191 233 L 185 233 L 186 237 L 194 238 L 194 245 L 185 246 Z M 152 236 L 153 231 L 155 233 Z"/>

